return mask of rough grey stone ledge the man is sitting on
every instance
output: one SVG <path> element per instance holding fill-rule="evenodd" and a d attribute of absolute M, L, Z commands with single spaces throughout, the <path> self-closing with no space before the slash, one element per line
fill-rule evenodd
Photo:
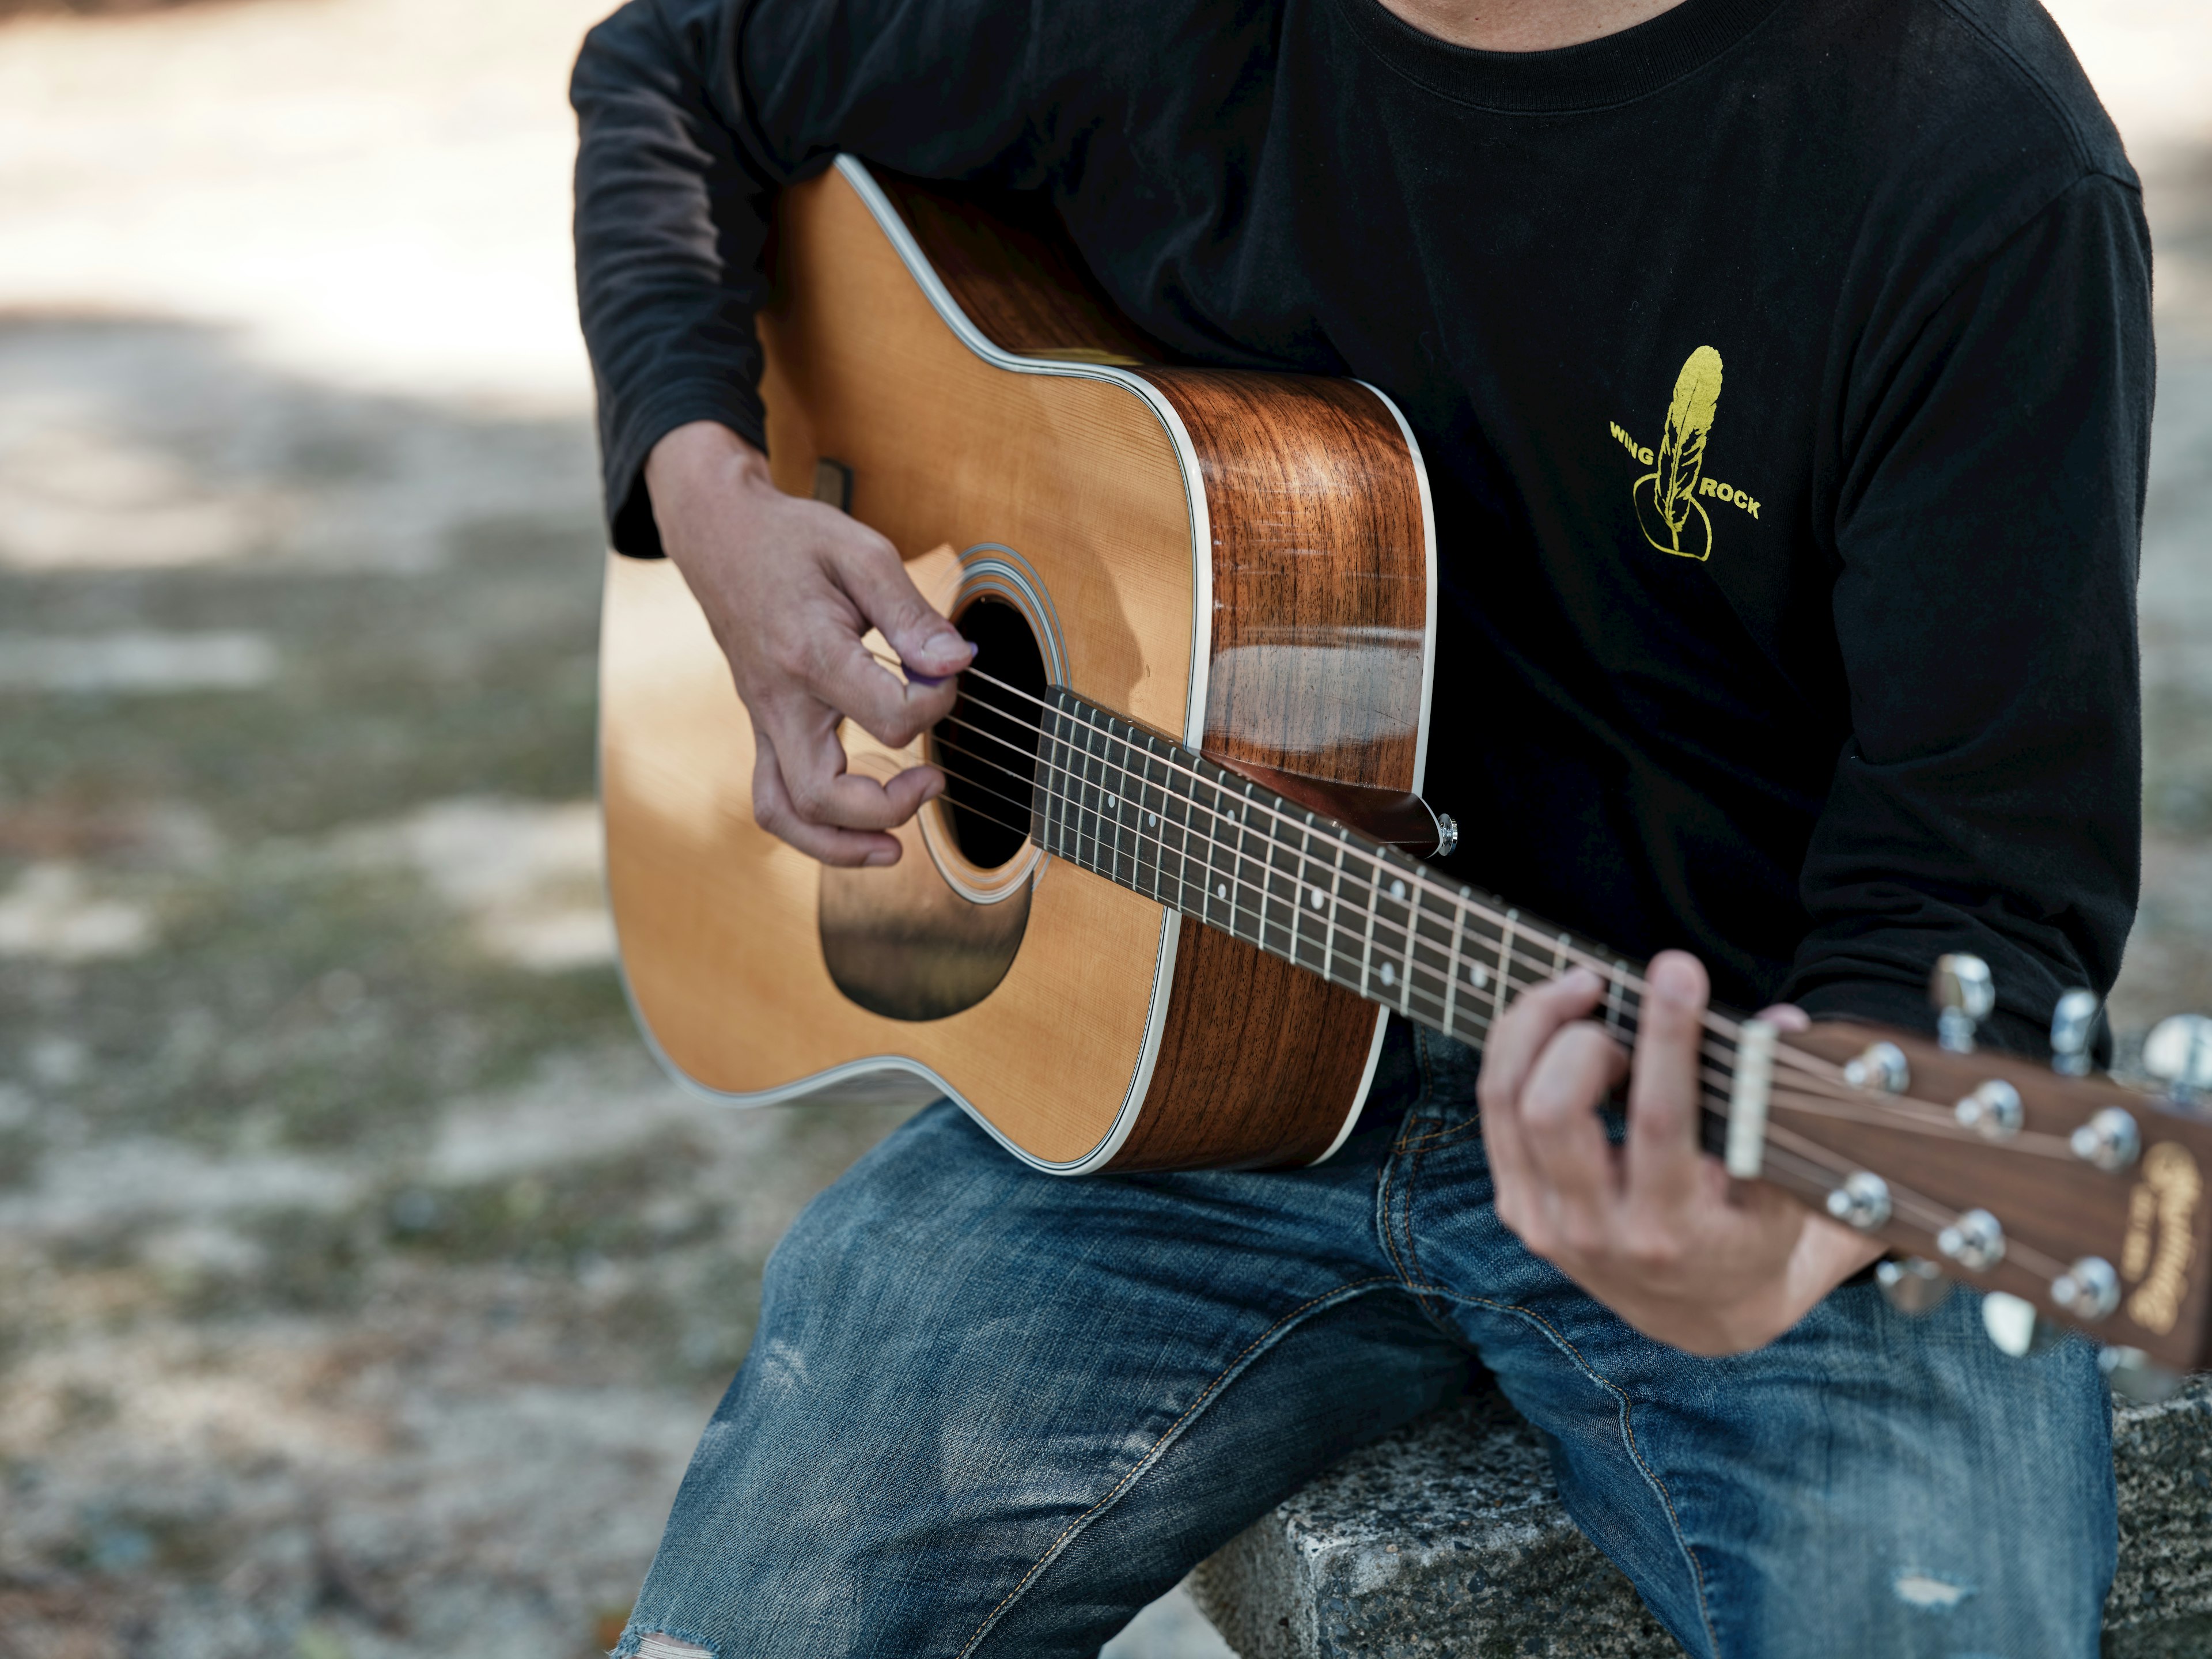
<path fill-rule="evenodd" d="M 2121 1407 L 2115 1458 L 2106 1659 L 2212 1652 L 2212 1380 Z M 1243 1659 L 1681 1659 L 1495 1394 L 1345 1460 L 1230 1540 L 1190 1593 Z"/>

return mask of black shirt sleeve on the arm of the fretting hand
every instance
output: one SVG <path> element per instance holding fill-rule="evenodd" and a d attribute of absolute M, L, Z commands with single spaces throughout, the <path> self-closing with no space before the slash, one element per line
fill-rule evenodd
<path fill-rule="evenodd" d="M 1838 487 L 1851 741 L 1814 827 L 1783 989 L 1927 1029 L 1982 956 L 1991 1042 L 2119 973 L 2141 869 L 2135 584 L 2150 451 L 2150 237 L 2088 175 L 1966 272 L 1869 376 Z"/>

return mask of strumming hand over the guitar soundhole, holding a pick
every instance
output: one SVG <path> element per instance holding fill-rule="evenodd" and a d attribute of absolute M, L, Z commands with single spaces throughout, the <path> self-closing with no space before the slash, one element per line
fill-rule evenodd
<path fill-rule="evenodd" d="M 942 794 L 914 765 L 878 783 L 845 770 L 838 723 L 905 748 L 951 712 L 975 648 L 907 577 L 898 549 L 823 502 L 785 495 L 768 458 L 714 420 L 646 458 L 661 549 L 690 584 L 752 714 L 752 816 L 825 865 L 898 863 L 885 834 Z M 900 679 L 860 637 L 878 628 Z"/>

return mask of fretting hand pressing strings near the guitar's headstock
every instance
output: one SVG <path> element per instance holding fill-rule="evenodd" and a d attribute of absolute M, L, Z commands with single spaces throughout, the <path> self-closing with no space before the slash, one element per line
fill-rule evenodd
<path fill-rule="evenodd" d="M 1699 1148 L 1705 969 L 1666 951 L 1646 973 L 1630 1057 L 1588 1015 L 1588 969 L 1515 1002 L 1482 1055 L 1482 1135 L 1498 1219 L 1646 1336 L 1690 1354 L 1741 1354 L 1796 1325 L 1882 1254 L 1781 1188 L 1734 1181 Z M 1763 1015 L 1787 1031 L 1792 1006 Z M 1599 1102 L 1628 1079 L 1628 1139 Z"/>

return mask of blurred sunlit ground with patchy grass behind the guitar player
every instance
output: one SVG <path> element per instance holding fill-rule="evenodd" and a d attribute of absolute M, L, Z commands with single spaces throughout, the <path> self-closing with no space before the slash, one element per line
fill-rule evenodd
<path fill-rule="evenodd" d="M 686 1099 L 615 980 L 608 7 L 0 0 L 0 1659 L 604 1650 L 891 1124 Z M 2055 11 L 2159 243 L 2139 1040 L 2212 1011 L 2212 4 Z"/>

